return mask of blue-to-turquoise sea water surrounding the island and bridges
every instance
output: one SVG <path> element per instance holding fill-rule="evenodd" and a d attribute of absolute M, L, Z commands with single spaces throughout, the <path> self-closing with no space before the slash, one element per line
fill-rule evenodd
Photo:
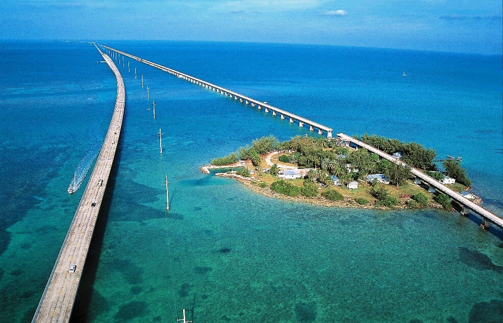
<path fill-rule="evenodd" d="M 503 214 L 500 56 L 103 43 L 335 132 L 376 133 L 421 142 L 439 157 L 460 155 L 473 191 Z M 83 192 L 69 195 L 66 187 L 105 136 L 116 83 L 89 43 L 2 42 L 0 54 L 0 321 L 26 322 Z M 200 165 L 254 138 L 312 133 L 145 64 L 131 61 L 128 72 L 127 62 L 120 67 L 127 103 L 115 180 L 73 322 L 174 321 L 182 308 L 194 322 L 503 320 L 500 231 L 480 230 L 475 216 L 454 212 L 293 204 L 203 175 Z M 147 110 L 153 100 L 156 119 Z"/>

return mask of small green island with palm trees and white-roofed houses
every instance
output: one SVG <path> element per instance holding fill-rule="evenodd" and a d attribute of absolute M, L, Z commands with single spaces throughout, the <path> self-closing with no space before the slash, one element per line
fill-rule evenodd
<path fill-rule="evenodd" d="M 432 148 L 376 135 L 354 138 L 379 147 L 474 202 L 481 202 L 469 192 L 471 181 L 460 166 L 461 158 L 440 160 L 445 171 L 439 171 L 439 160 L 435 160 L 437 154 Z M 383 210 L 452 209 L 448 195 L 429 191 L 427 185 L 415 180 L 407 165 L 382 159 L 362 147 L 341 146 L 333 139 L 296 136 L 279 142 L 270 135 L 215 158 L 200 169 L 205 173 L 226 169 L 215 175 L 237 179 L 255 192 L 290 201 Z"/>

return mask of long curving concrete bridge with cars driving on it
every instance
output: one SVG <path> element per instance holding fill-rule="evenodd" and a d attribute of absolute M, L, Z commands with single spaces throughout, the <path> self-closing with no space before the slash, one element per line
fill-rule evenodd
<path fill-rule="evenodd" d="M 94 44 L 94 46 L 96 46 Z M 96 218 L 107 187 L 124 115 L 124 82 L 112 59 L 96 46 L 117 79 L 117 98 L 105 141 L 99 152 L 63 246 L 33 317 L 35 322 L 68 322 L 82 277 Z M 68 272 L 71 265 L 77 268 Z"/>

